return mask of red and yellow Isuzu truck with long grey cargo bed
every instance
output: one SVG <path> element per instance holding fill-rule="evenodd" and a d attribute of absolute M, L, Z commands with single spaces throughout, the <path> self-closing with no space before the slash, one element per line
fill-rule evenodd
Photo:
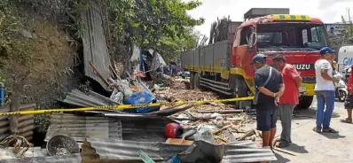
<path fill-rule="evenodd" d="M 255 94 L 252 58 L 263 53 L 271 65 L 271 58 L 280 54 L 302 76 L 300 91 L 305 93 L 298 107 L 309 108 L 314 96 L 318 50 L 327 46 L 323 22 L 307 15 L 272 14 L 247 19 L 234 30 L 231 40 L 181 53 L 182 66 L 191 73 L 191 89 L 206 87 L 232 97 L 252 96 Z M 247 105 L 247 102 L 239 104 Z"/>

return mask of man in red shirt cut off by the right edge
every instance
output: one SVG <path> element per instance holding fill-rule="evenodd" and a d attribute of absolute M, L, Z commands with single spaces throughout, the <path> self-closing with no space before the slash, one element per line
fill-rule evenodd
<path fill-rule="evenodd" d="M 349 96 L 346 98 L 344 107 L 347 109 L 348 118 L 341 120 L 344 123 L 352 123 L 352 108 L 353 108 L 353 66 L 350 67 L 349 80 L 347 82 L 347 89 Z"/>

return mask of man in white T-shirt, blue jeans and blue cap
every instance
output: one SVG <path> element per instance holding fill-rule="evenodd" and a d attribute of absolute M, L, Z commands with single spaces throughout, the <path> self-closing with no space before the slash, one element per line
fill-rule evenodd
<path fill-rule="evenodd" d="M 317 127 L 314 131 L 338 133 L 338 131 L 330 128 L 331 116 L 334 108 L 334 86 L 333 82 L 338 82 L 333 78 L 333 67 L 330 60 L 334 56 L 334 50 L 328 47 L 320 50 L 321 58 L 315 63 L 316 82 L 315 95 L 317 96 Z M 325 110 L 326 105 L 326 110 Z"/>

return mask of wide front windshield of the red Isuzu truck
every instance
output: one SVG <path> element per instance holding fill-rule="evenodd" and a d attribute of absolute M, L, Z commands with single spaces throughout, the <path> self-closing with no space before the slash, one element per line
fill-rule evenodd
<path fill-rule="evenodd" d="M 320 50 L 327 46 L 326 28 L 314 23 L 267 23 L 256 28 L 259 51 Z"/>

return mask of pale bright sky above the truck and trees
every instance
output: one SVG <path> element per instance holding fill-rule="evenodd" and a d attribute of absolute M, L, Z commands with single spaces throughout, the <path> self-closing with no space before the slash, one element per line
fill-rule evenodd
<path fill-rule="evenodd" d="M 183 0 L 190 1 L 190 0 Z M 243 21 L 250 8 L 289 8 L 290 14 L 304 14 L 325 23 L 341 22 L 341 15 L 348 19 L 350 6 L 353 16 L 353 0 L 199 0 L 202 5 L 189 11 L 193 18 L 204 18 L 202 26 L 195 27 L 201 35 L 208 35 L 211 23 L 217 17 L 230 16 L 232 21 Z"/>

